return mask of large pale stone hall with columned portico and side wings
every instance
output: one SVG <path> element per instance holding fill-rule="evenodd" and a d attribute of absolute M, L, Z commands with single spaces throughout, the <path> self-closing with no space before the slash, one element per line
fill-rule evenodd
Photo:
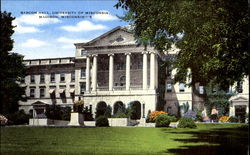
<path fill-rule="evenodd" d="M 141 119 L 156 109 L 176 113 L 186 103 L 189 109 L 204 108 L 193 88 L 171 82 L 175 70 L 161 67 L 162 59 L 171 54 L 162 56 L 153 47 L 145 50 L 137 46 L 125 27 L 114 28 L 87 43 L 76 43 L 75 47 L 75 57 L 24 61 L 28 76 L 22 85 L 29 99 L 20 102 L 20 109 L 40 115 L 46 104 L 72 106 L 75 100 L 84 100 L 93 114 L 97 106 L 107 105 L 115 114 L 117 107 L 133 104 L 137 119 Z M 202 86 L 196 89 L 202 92 Z M 248 101 L 248 96 L 244 100 Z"/>

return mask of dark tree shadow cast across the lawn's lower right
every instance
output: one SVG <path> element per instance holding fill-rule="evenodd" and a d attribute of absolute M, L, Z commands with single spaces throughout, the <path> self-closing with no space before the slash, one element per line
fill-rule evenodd
<path fill-rule="evenodd" d="M 163 129 L 167 130 L 167 129 Z M 247 155 L 248 154 L 248 126 L 239 128 L 216 128 L 210 130 L 168 132 L 176 134 L 174 141 L 184 145 L 176 149 L 168 149 L 165 153 L 181 155 Z M 182 134 L 190 134 L 192 138 L 183 139 Z M 191 143 L 191 145 L 187 144 Z M 197 144 L 207 143 L 207 144 Z M 194 144 L 194 145 L 192 145 Z"/>

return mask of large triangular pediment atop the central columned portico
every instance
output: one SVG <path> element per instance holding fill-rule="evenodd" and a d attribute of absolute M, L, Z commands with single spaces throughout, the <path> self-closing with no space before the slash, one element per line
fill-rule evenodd
<path fill-rule="evenodd" d="M 124 27 L 116 27 L 103 35 L 81 44 L 83 47 L 88 46 L 115 46 L 115 45 L 134 45 L 136 41 L 133 33 Z"/>

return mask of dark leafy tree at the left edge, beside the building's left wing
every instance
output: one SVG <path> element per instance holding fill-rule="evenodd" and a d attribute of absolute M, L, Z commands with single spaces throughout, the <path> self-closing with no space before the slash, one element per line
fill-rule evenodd
<path fill-rule="evenodd" d="M 18 101 L 25 101 L 25 88 L 19 85 L 21 78 L 25 76 L 25 66 L 22 63 L 23 56 L 11 52 L 13 48 L 15 19 L 10 13 L 0 12 L 0 113 L 8 114 L 18 111 Z"/>

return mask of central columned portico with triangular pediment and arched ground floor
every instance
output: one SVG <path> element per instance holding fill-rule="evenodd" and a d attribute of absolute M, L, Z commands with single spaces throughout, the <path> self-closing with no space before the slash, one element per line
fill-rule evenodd
<path fill-rule="evenodd" d="M 138 47 L 133 34 L 121 27 L 75 45 L 76 52 L 85 51 L 80 57 L 86 57 L 86 92 L 76 96 L 82 96 L 86 105 L 95 109 L 100 102 L 114 107 L 118 101 L 125 106 L 136 101 L 141 118 L 155 110 L 157 52 L 153 47 Z"/>

